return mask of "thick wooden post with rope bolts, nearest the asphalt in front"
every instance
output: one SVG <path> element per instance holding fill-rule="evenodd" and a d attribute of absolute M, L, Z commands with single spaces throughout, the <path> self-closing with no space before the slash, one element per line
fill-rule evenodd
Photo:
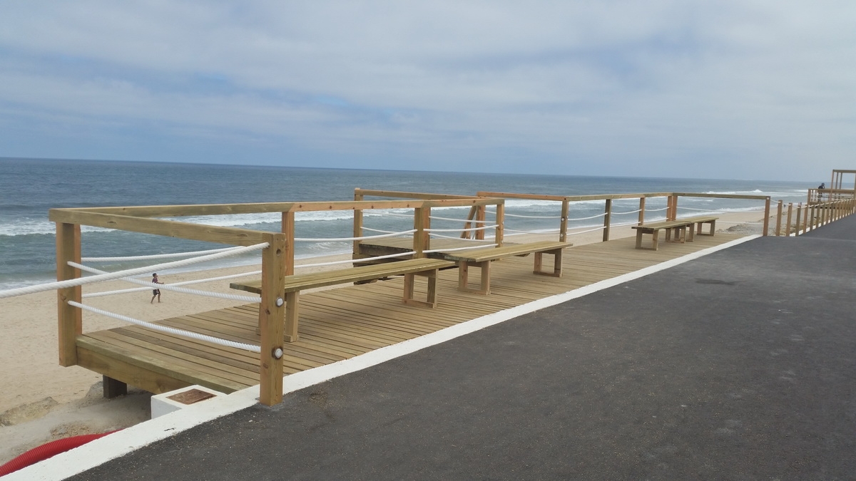
<path fill-rule="evenodd" d="M 288 241 L 284 234 L 271 234 L 267 237 L 270 246 L 262 251 L 262 299 L 259 305 L 259 402 L 265 406 L 273 406 L 282 402 L 282 319 L 285 314 L 282 294 L 285 288 L 283 258 Z M 296 333 L 294 334 L 296 338 Z"/>

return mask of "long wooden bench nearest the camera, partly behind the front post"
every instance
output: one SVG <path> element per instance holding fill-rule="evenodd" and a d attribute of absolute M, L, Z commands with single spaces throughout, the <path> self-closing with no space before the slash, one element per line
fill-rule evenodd
<path fill-rule="evenodd" d="M 285 277 L 285 340 L 297 341 L 297 321 L 300 310 L 300 291 L 311 288 L 324 288 L 336 284 L 362 282 L 382 279 L 389 276 L 404 276 L 404 303 L 416 306 L 437 306 L 437 270 L 452 267 L 455 263 L 437 258 L 413 258 L 389 262 L 386 264 L 360 265 L 348 269 L 307 272 Z M 413 279 L 415 276 L 428 277 L 427 300 L 413 299 Z M 230 288 L 255 294 L 261 294 L 261 280 L 252 282 L 233 282 Z"/>

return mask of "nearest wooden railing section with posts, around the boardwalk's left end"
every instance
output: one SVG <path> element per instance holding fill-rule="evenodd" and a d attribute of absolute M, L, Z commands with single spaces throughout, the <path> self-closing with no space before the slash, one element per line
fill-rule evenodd
<path fill-rule="evenodd" d="M 449 197 L 447 199 L 377 200 L 343 202 L 282 202 L 267 204 L 218 205 L 160 205 L 136 207 L 98 207 L 83 209 L 51 209 L 49 218 L 56 223 L 56 277 L 59 281 L 80 277 L 80 270 L 70 267 L 68 261 L 80 263 L 80 226 L 121 229 L 151 235 L 163 235 L 193 241 L 208 241 L 231 246 L 253 246 L 267 243 L 262 250 L 262 288 L 259 305 L 259 401 L 266 405 L 282 401 L 282 352 L 284 351 L 283 318 L 285 306 L 283 289 L 286 276 L 294 274 L 294 213 L 300 211 L 354 211 L 354 218 L 370 209 L 412 209 L 413 251 L 422 257 L 428 246 L 425 229 L 430 226 L 432 207 L 470 206 L 483 208 L 495 205 L 502 239 L 502 199 Z M 217 227 L 196 223 L 182 223 L 152 217 L 187 217 L 260 212 L 280 212 L 281 232 L 264 232 L 251 229 Z M 356 220 L 355 220 L 356 223 Z M 359 236 L 359 235 L 355 235 Z M 80 303 L 81 288 L 62 288 L 57 291 L 57 324 L 59 332 L 60 365 L 76 365 L 76 338 L 83 332 L 80 309 L 69 306 L 68 300 Z"/>

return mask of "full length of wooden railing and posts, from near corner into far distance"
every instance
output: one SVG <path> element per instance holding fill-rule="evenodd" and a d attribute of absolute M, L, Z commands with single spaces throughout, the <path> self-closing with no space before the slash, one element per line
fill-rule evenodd
<path fill-rule="evenodd" d="M 392 197 L 406 200 L 366 200 L 367 196 Z M 259 305 L 259 333 L 261 353 L 259 356 L 259 401 L 273 405 L 282 401 L 282 350 L 284 348 L 284 302 L 283 286 L 286 276 L 294 274 L 294 214 L 299 211 L 353 211 L 354 237 L 363 236 L 363 211 L 374 209 L 413 210 L 414 257 L 423 257 L 429 249 L 431 209 L 437 207 L 468 206 L 470 214 L 467 225 L 484 226 L 485 209 L 496 208 L 496 244 L 502 245 L 504 232 L 504 199 L 537 199 L 556 201 L 560 204 L 559 241 L 568 238 L 568 211 L 572 202 L 603 200 L 603 241 L 609 240 L 612 217 L 612 201 L 615 199 L 639 199 L 639 224 L 645 223 L 645 200 L 667 197 L 667 220 L 677 217 L 681 197 L 713 197 L 723 199 L 764 200 L 764 235 L 767 235 L 770 218 L 770 198 L 764 196 L 699 194 L 699 193 L 624 193 L 607 195 L 555 196 L 525 193 L 479 192 L 476 196 L 443 195 L 433 193 L 402 193 L 394 191 L 356 189 L 354 201 L 342 202 L 282 202 L 263 204 L 218 204 L 218 205 L 160 205 L 131 207 L 98 207 L 81 209 L 51 209 L 49 218 L 56 223 L 56 276 L 58 281 L 80 277 L 80 270 L 70 267 L 68 261 L 80 263 L 80 226 L 128 230 L 151 235 L 162 235 L 194 241 L 208 241 L 231 246 L 253 246 L 267 243 L 262 250 L 262 288 Z M 856 209 L 853 196 L 830 202 L 788 205 L 785 232 L 797 234 L 815 229 L 820 225 L 851 215 Z M 777 205 L 776 235 L 782 232 L 782 202 Z M 217 227 L 197 223 L 152 217 L 188 217 L 279 212 L 281 232 L 264 232 L 252 229 Z M 484 238 L 484 231 L 479 231 Z M 787 235 L 787 234 L 786 234 Z M 360 241 L 354 241 L 354 252 L 358 252 Z M 69 306 L 68 300 L 80 302 L 80 286 L 57 290 L 57 325 L 59 333 L 60 365 L 76 365 L 78 362 L 76 338 L 82 333 L 80 309 Z"/>

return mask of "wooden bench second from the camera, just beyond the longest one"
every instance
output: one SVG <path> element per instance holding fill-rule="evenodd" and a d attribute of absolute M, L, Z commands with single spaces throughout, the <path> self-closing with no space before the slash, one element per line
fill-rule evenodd
<path fill-rule="evenodd" d="M 490 262 L 500 258 L 511 256 L 526 256 L 535 254 L 535 266 L 533 272 L 542 276 L 562 276 L 562 249 L 573 246 L 570 242 L 538 241 L 526 244 L 509 244 L 500 247 L 483 247 L 461 252 L 443 253 L 443 258 L 455 261 L 458 264 L 458 290 L 478 294 L 490 294 Z M 553 254 L 552 272 L 541 270 L 542 255 Z M 468 274 L 471 265 L 481 269 L 481 286 L 479 289 L 469 288 Z"/>

